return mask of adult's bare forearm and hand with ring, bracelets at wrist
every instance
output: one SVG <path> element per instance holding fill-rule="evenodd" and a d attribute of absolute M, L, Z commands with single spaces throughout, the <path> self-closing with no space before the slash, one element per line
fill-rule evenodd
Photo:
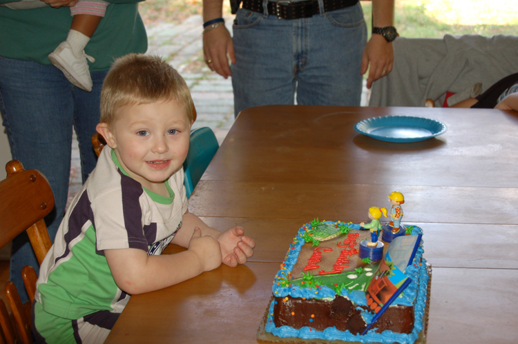
<path fill-rule="evenodd" d="M 203 0 L 203 21 L 222 17 L 223 0 Z M 204 60 L 212 71 L 227 79 L 232 75 L 229 67 L 229 57 L 236 63 L 236 54 L 229 30 L 224 25 L 204 32 L 203 34 Z M 211 62 L 211 63 L 209 63 Z"/>

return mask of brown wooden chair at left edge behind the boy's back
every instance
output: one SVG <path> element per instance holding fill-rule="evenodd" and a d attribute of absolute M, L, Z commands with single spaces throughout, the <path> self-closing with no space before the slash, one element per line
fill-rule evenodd
<path fill-rule="evenodd" d="M 52 246 L 44 217 L 54 208 L 54 194 L 41 172 L 23 170 L 19 161 L 6 165 L 7 178 L 0 181 L 0 248 L 18 234 L 27 231 L 38 263 L 44 260 Z M 7 343 L 32 343 L 30 306 L 34 301 L 37 275 L 26 266 L 22 271 L 30 301 L 22 304 L 18 291 L 12 282 L 6 283 L 6 299 L 15 322 L 13 330 L 6 306 L 0 302 L 0 324 Z"/>

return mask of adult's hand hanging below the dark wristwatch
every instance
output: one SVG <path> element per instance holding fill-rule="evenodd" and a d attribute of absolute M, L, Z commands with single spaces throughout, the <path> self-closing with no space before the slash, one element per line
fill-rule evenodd
<path fill-rule="evenodd" d="M 381 34 L 373 34 L 365 45 L 361 59 L 361 74 L 365 74 L 367 68 L 369 70 L 367 88 L 371 88 L 374 81 L 392 72 L 393 63 L 392 42 L 388 43 Z"/>

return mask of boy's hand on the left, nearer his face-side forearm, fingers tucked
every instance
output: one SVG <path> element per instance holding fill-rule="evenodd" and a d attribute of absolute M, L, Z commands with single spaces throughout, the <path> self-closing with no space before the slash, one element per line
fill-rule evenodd
<path fill-rule="evenodd" d="M 189 250 L 198 255 L 203 271 L 214 270 L 221 265 L 220 243 L 210 235 L 202 236 L 199 227 L 194 229 L 191 241 L 189 241 Z"/>

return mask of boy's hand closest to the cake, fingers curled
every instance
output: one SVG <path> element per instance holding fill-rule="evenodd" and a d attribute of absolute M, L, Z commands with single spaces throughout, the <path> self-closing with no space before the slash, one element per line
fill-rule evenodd
<path fill-rule="evenodd" d="M 253 247 L 256 242 L 244 235 L 242 227 L 233 227 L 217 236 L 221 247 L 222 263 L 230 267 L 247 263 L 247 259 L 253 255 Z"/>

